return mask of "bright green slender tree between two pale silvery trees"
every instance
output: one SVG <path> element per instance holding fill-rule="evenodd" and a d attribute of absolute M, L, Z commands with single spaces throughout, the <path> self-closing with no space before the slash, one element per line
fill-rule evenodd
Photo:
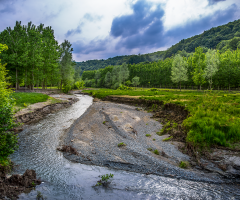
<path fill-rule="evenodd" d="M 195 49 L 195 53 L 192 57 L 192 65 L 194 68 L 193 82 L 196 85 L 199 85 L 201 90 L 201 86 L 205 83 L 205 54 L 203 53 L 203 49 L 201 47 Z"/>

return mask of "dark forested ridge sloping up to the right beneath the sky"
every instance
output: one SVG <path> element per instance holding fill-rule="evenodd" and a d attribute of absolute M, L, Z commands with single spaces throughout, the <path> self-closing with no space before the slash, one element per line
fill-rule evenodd
<path fill-rule="evenodd" d="M 106 60 L 88 60 L 86 62 L 76 62 L 76 65 L 77 68 L 81 67 L 83 72 L 102 69 L 111 65 L 122 65 L 124 62 L 127 64 L 137 64 L 164 60 L 176 53 L 186 56 L 187 53 L 194 52 L 195 48 L 199 46 L 203 47 L 204 52 L 207 52 L 207 48 L 218 49 L 221 50 L 221 52 L 224 52 L 227 49 L 236 50 L 239 45 L 238 37 L 240 37 L 240 20 L 235 20 L 226 25 L 204 31 L 204 33 L 200 35 L 183 39 L 166 51 L 158 51 L 143 55 L 116 56 Z M 238 48 L 240 48 L 240 46 Z"/>

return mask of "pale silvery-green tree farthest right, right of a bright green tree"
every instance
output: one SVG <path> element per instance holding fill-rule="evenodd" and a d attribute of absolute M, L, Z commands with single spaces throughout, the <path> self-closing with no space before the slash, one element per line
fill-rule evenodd
<path fill-rule="evenodd" d="M 219 57 L 216 50 L 209 49 L 206 53 L 206 68 L 204 69 L 204 76 L 209 82 L 210 90 L 212 89 L 212 77 L 218 71 Z"/>

